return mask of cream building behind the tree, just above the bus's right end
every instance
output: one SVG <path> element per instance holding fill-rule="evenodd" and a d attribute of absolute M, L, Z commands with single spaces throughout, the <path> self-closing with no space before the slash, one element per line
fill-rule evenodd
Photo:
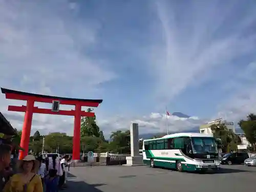
<path fill-rule="evenodd" d="M 212 135 L 213 133 L 211 131 L 210 126 L 213 124 L 220 124 L 220 123 L 225 123 L 225 125 L 227 126 L 227 129 L 232 130 L 234 133 L 236 133 L 236 130 L 234 129 L 235 128 L 234 122 L 228 122 L 226 120 L 223 120 L 222 118 L 212 120 L 206 124 L 202 124 L 199 127 L 199 131 L 200 131 L 200 133 Z"/>

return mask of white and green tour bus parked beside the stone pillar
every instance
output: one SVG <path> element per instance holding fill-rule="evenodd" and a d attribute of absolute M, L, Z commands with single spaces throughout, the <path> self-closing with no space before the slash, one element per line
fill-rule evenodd
<path fill-rule="evenodd" d="M 143 141 L 143 162 L 179 172 L 220 169 L 218 141 L 202 133 L 176 133 Z"/>

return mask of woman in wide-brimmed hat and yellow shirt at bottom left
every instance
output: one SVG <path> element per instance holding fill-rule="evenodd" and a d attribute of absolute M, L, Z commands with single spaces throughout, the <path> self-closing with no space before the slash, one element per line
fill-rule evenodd
<path fill-rule="evenodd" d="M 27 155 L 17 162 L 19 174 L 11 177 L 4 188 L 4 192 L 43 192 L 40 176 L 36 175 L 39 161 L 33 155 Z"/>

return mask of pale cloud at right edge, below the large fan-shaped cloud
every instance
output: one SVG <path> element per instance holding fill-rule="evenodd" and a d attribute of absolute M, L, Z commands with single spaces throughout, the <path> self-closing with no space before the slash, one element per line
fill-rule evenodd
<path fill-rule="evenodd" d="M 218 106 L 219 117 L 239 121 L 250 113 L 256 113 L 256 62 L 251 62 L 243 71 L 223 84 L 223 92 L 231 92 Z"/>

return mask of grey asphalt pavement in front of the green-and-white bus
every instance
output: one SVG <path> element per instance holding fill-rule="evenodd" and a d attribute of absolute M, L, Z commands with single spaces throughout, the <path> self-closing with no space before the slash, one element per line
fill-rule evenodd
<path fill-rule="evenodd" d="M 72 167 L 65 191 L 216 192 L 255 190 L 256 167 L 223 165 L 222 173 L 192 174 L 148 166 Z"/>

